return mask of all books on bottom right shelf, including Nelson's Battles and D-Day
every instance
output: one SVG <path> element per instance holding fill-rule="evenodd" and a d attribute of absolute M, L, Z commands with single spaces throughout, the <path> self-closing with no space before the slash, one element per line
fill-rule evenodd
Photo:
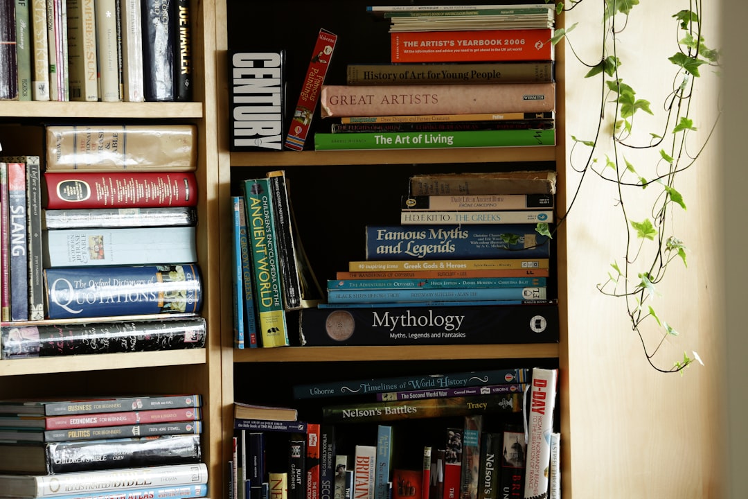
<path fill-rule="evenodd" d="M 231 497 L 539 497 L 549 488 L 551 448 L 537 432 L 553 430 L 555 376 L 552 369 L 520 368 L 342 382 L 354 400 L 337 404 L 325 384 L 299 386 L 301 394 L 328 391 L 313 397 L 322 403 L 321 423 L 299 420 L 293 408 L 236 402 Z M 459 388 L 423 388 L 401 399 L 388 399 L 392 392 L 384 388 L 435 382 Z M 364 385 L 367 397 L 351 390 Z M 528 387 L 535 405 L 525 407 Z M 471 388 L 478 394 L 466 396 Z M 523 419 L 533 420 L 531 447 Z"/>

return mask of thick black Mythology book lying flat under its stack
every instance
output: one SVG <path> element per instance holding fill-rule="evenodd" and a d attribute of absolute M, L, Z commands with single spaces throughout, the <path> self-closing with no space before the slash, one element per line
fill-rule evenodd
<path fill-rule="evenodd" d="M 412 304 L 409 304 L 412 305 Z M 299 317 L 302 346 L 475 345 L 554 343 L 556 304 L 307 308 Z"/>

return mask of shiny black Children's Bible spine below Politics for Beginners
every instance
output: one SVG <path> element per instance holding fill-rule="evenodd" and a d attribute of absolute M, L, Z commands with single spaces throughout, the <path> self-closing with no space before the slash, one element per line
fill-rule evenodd
<path fill-rule="evenodd" d="M 200 435 L 46 444 L 50 473 L 200 462 Z"/>

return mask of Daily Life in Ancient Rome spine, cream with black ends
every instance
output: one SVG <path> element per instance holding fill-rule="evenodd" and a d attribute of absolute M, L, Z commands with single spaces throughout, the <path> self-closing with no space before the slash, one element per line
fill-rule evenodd
<path fill-rule="evenodd" d="M 408 212 L 448 210 L 479 212 L 553 208 L 554 196 L 550 194 L 402 196 L 400 198 L 400 209 Z"/>

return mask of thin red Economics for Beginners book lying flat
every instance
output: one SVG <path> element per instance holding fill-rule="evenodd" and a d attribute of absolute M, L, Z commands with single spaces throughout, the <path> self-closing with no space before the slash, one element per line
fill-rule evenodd
<path fill-rule="evenodd" d="M 11 416 L 0 417 L 0 426 L 35 429 L 93 428 L 130 424 L 169 423 L 200 419 L 200 408 L 186 407 L 153 409 L 150 411 L 106 412 L 70 416 Z"/>

